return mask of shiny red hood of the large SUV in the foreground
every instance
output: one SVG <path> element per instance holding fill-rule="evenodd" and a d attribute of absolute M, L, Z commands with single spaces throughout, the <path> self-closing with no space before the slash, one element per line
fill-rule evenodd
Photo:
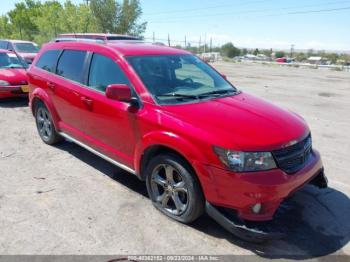
<path fill-rule="evenodd" d="M 300 116 L 246 93 L 163 109 L 199 128 L 214 145 L 234 150 L 270 151 L 309 133 Z"/>

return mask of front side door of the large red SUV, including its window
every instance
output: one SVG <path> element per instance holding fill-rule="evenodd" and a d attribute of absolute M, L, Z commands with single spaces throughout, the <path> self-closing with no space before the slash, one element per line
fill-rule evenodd
<path fill-rule="evenodd" d="M 131 87 L 130 81 L 116 61 L 94 53 L 85 84 L 81 89 L 85 110 L 80 115 L 84 119 L 84 132 L 99 151 L 132 167 L 137 112 L 131 112 L 128 103 L 105 96 L 108 85 Z"/>

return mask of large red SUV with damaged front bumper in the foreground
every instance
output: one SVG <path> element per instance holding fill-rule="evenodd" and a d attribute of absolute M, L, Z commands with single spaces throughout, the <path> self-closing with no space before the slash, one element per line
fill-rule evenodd
<path fill-rule="evenodd" d="M 206 209 L 237 233 L 247 229 L 237 221 L 271 220 L 304 184 L 327 186 L 302 117 L 184 50 L 49 43 L 28 75 L 45 143 L 65 138 L 145 180 L 154 206 L 180 222 Z"/>

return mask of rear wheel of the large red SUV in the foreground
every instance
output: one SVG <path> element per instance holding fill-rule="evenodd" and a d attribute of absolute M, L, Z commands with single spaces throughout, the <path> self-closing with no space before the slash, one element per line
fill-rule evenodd
<path fill-rule="evenodd" d="M 53 145 L 62 140 L 56 131 L 49 110 L 42 102 L 39 102 L 35 108 L 35 122 L 39 136 L 44 143 Z"/>

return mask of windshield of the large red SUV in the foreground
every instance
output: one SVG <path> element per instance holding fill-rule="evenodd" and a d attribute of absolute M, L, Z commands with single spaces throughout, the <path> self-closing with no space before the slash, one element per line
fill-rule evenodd
<path fill-rule="evenodd" d="M 130 56 L 127 60 L 159 104 L 210 99 L 237 92 L 194 55 Z"/>

